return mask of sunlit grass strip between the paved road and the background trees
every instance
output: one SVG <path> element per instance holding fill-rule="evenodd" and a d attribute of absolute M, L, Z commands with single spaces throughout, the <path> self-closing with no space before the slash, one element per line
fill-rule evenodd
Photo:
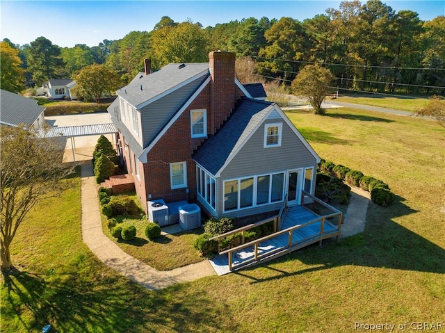
<path fill-rule="evenodd" d="M 427 98 L 407 98 L 407 97 L 382 97 L 375 95 L 373 97 L 362 96 L 341 96 L 332 100 L 343 101 L 344 103 L 364 104 L 371 106 L 379 106 L 382 108 L 392 108 L 394 110 L 415 112 L 419 108 L 423 108 L 428 103 Z"/>

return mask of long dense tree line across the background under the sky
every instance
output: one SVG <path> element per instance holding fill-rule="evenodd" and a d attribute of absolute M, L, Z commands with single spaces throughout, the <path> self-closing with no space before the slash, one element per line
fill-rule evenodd
<path fill-rule="evenodd" d="M 255 81 L 280 78 L 290 84 L 302 67 L 319 63 L 339 89 L 445 93 L 445 16 L 425 22 L 412 10 L 396 13 L 379 0 L 343 1 L 302 22 L 249 17 L 204 28 L 164 16 L 152 31 L 131 31 L 95 47 L 61 48 L 44 37 L 22 46 L 3 40 L 2 62 L 6 49 L 21 63 L 19 82 L 11 85 L 16 90 L 72 77 L 94 63 L 118 74 L 125 85 L 143 71 L 144 58 L 152 59 L 156 70 L 168 63 L 207 62 L 209 51 L 223 49 L 238 59 L 250 57 Z"/>

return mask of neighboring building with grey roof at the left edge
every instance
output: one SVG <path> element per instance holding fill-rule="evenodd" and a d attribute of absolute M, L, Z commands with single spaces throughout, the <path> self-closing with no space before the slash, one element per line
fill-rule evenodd
<path fill-rule="evenodd" d="M 35 99 L 26 98 L 13 92 L 0 90 L 0 123 L 17 127 L 40 129 L 44 126 L 44 107 L 39 106 Z"/>

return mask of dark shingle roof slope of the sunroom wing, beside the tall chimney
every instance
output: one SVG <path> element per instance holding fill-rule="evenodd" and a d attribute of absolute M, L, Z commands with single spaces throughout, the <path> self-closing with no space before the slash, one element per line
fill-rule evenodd
<path fill-rule="evenodd" d="M 255 99 L 242 99 L 232 117 L 223 128 L 206 140 L 197 150 L 193 159 L 212 174 L 230 159 L 250 133 L 273 108 L 274 103 Z"/>

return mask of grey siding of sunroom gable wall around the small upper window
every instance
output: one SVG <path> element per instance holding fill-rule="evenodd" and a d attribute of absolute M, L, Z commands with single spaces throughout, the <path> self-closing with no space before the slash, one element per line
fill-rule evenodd
<path fill-rule="evenodd" d="M 264 148 L 264 127 L 266 124 L 282 122 L 282 144 L 280 147 Z M 228 179 L 285 172 L 298 168 L 316 168 L 316 158 L 303 145 L 300 138 L 289 128 L 284 120 L 270 119 L 261 124 L 247 143 L 236 154 L 235 158 L 221 172 L 221 177 L 216 179 L 217 184 L 217 211 L 218 216 L 242 217 L 257 213 L 279 210 L 282 202 L 274 202 L 262 206 L 254 206 L 249 209 L 230 211 L 223 213 L 224 186 Z M 315 181 L 312 185 L 314 186 Z"/>

